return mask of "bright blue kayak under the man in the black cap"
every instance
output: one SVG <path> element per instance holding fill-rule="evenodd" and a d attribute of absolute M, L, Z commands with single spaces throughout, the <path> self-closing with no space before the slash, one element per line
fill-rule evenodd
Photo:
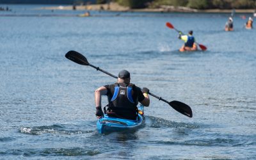
<path fill-rule="evenodd" d="M 144 106 L 138 107 L 138 116 L 136 120 L 126 120 L 122 118 L 109 117 L 104 114 L 104 117 L 97 121 L 97 129 L 99 133 L 116 132 L 124 130 L 134 130 L 145 124 L 143 116 Z"/>

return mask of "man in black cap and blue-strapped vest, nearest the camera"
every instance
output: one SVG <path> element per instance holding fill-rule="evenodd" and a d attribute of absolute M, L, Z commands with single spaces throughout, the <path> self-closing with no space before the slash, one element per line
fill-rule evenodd
<path fill-rule="evenodd" d="M 130 73 L 121 70 L 118 74 L 118 81 L 115 84 L 101 86 L 95 90 L 96 116 L 104 116 L 101 108 L 101 96 L 108 95 L 108 116 L 136 120 L 140 102 L 143 106 L 149 106 L 148 88 L 138 88 L 130 83 Z"/>

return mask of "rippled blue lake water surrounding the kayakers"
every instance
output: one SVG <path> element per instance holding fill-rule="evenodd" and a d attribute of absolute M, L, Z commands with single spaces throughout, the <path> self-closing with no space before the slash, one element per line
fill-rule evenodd
<path fill-rule="evenodd" d="M 0 159 L 256 157 L 256 36 L 239 14 L 235 31 L 225 32 L 229 14 L 76 17 L 84 11 L 31 10 L 37 7 L 0 13 Z M 180 53 L 166 22 L 193 29 L 207 51 Z M 188 104 L 193 118 L 150 97 L 145 127 L 98 134 L 94 90 L 116 80 L 67 60 L 70 50 L 112 74 L 129 70 L 132 83 Z"/>

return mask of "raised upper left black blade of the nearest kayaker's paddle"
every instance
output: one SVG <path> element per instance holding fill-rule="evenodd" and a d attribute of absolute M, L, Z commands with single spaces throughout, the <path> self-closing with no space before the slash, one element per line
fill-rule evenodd
<path fill-rule="evenodd" d="M 74 61 L 78 63 L 79 65 L 89 65 L 87 59 L 79 52 L 76 51 L 68 51 L 65 57 L 68 60 Z"/>

